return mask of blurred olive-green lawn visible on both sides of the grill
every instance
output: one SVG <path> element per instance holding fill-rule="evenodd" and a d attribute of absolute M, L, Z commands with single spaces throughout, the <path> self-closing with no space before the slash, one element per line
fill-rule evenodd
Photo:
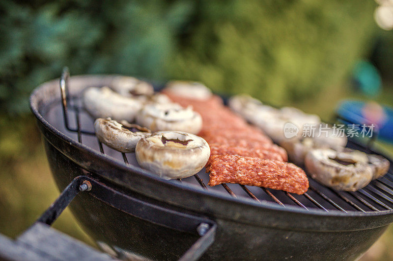
<path fill-rule="evenodd" d="M 348 97 L 368 99 L 346 85 L 337 85 L 324 90 L 312 100 L 286 105 L 318 114 L 322 119 L 332 119 L 337 102 Z M 375 100 L 392 105 L 393 88 L 385 89 L 384 95 Z M 50 206 L 59 191 L 50 173 L 32 115 L 17 119 L 0 116 L 0 138 L 0 233 L 17 237 Z M 392 144 L 378 142 L 377 146 L 393 158 Z M 94 245 L 69 210 L 60 215 L 54 227 Z M 393 260 L 392 241 L 391 226 L 361 260 Z"/>

